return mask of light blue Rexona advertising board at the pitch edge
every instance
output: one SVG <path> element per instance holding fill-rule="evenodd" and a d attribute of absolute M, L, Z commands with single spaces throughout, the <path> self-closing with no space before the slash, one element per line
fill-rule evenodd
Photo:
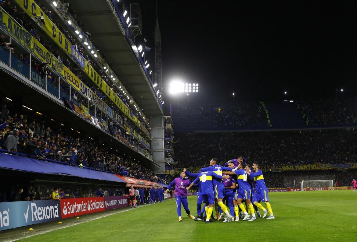
<path fill-rule="evenodd" d="M 59 219 L 59 201 L 0 202 L 0 231 Z"/>

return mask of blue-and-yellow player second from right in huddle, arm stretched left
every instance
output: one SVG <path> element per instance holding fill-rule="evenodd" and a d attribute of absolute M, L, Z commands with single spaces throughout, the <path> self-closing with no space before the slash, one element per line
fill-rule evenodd
<path fill-rule="evenodd" d="M 237 205 L 234 206 L 234 211 L 236 213 L 235 221 L 239 220 L 238 207 L 243 211 L 243 213 L 245 215 L 243 220 L 250 220 L 250 216 L 247 213 L 247 210 L 246 210 L 244 204 L 242 203 L 243 200 L 246 200 L 246 205 L 250 210 L 254 209 L 253 205 L 250 201 L 250 192 L 251 191 L 250 191 L 250 187 L 247 184 L 248 174 L 244 170 L 245 166 L 246 166 L 245 163 L 241 163 L 238 165 L 239 169 L 236 171 L 223 171 L 223 174 L 226 174 L 226 175 L 237 175 L 237 182 L 239 185 L 239 189 L 236 190 L 236 194 L 234 196 L 234 199 L 237 200 Z M 252 213 L 252 217 L 253 217 L 253 219 L 251 221 L 256 219 L 255 213 Z"/>

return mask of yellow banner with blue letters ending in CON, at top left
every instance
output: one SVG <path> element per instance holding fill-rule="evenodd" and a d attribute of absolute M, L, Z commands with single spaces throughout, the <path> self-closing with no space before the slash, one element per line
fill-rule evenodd
<path fill-rule="evenodd" d="M 61 33 L 57 26 L 47 17 L 44 11 L 34 0 L 14 0 L 30 17 L 38 17 L 42 29 L 59 45 L 64 51 L 71 55 L 71 43 Z M 42 19 L 43 18 L 43 19 Z"/>

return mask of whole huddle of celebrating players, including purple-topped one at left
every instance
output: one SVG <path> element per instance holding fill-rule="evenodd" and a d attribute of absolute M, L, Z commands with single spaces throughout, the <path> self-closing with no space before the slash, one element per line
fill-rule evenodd
<path fill-rule="evenodd" d="M 263 211 L 263 218 L 267 213 L 270 214 L 267 219 L 275 218 L 269 203 L 268 189 L 258 163 L 253 163 L 252 171 L 243 162 L 242 157 L 230 160 L 226 164 L 217 163 L 218 159 L 212 158 L 210 166 L 202 168 L 200 173 L 190 173 L 184 169 L 180 177 L 175 178 L 167 187 L 166 192 L 175 184 L 178 221 L 182 221 L 181 203 L 188 217 L 206 223 L 211 223 L 215 204 L 218 205 L 216 218 L 222 220 L 225 215 L 223 222 L 239 221 L 239 218 L 248 221 L 256 220 L 257 216 L 261 217 L 258 208 Z M 195 180 L 190 184 L 186 175 L 195 177 Z M 187 190 L 195 184 L 198 184 L 197 217 L 190 214 L 187 203 Z M 206 206 L 201 210 L 202 202 Z M 267 208 L 264 208 L 260 202 L 264 202 Z"/>

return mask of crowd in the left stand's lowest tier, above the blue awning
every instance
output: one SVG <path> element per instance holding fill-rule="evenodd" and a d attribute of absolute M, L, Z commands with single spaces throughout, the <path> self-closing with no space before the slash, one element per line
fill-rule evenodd
<path fill-rule="evenodd" d="M 25 114 L 26 115 L 26 114 Z M 26 118 L 27 117 L 27 118 Z M 11 113 L 6 104 L 0 113 L 0 148 L 25 153 L 39 159 L 62 161 L 124 176 L 165 183 L 151 169 L 127 155 L 120 155 L 104 144 L 63 129 L 61 124 L 31 114 Z M 70 134 L 72 133 L 72 134 Z"/>

